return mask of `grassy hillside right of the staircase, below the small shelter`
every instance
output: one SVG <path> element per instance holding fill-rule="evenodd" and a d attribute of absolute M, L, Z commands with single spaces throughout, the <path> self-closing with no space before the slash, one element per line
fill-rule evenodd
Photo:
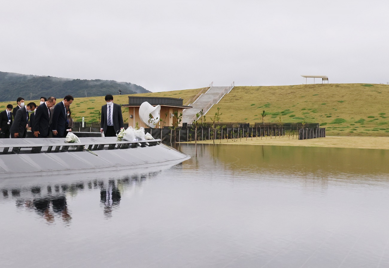
<path fill-rule="evenodd" d="M 319 122 L 328 135 L 389 136 L 389 85 L 308 84 L 236 86 L 210 109 L 220 107 L 222 121 Z"/>

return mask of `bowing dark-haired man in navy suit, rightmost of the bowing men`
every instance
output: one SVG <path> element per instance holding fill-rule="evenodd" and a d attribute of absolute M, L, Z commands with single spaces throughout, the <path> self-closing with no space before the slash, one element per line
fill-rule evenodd
<path fill-rule="evenodd" d="M 66 131 L 66 120 L 68 117 L 67 108 L 72 104 L 74 98 L 70 95 L 65 96 L 63 101 L 54 106 L 51 129 L 53 130 L 53 138 L 65 138 L 68 132 Z"/>

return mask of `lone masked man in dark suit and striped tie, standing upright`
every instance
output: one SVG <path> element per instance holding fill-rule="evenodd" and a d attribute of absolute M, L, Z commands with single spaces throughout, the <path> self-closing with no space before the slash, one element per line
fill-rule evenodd
<path fill-rule="evenodd" d="M 116 137 L 116 132 L 123 129 L 121 106 L 113 102 L 112 95 L 105 96 L 106 105 L 101 107 L 100 132 L 106 137 Z"/>

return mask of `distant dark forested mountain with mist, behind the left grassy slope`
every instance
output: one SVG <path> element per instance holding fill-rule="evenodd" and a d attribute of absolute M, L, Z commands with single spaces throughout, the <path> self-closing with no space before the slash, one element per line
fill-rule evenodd
<path fill-rule="evenodd" d="M 117 95 L 119 90 L 121 94 L 150 92 L 142 86 L 114 80 L 81 80 L 0 72 L 0 101 L 16 101 L 18 97 L 30 100 L 30 93 L 33 100 L 41 96 L 60 99 L 65 95 L 85 97 L 85 90 L 88 97 Z"/>

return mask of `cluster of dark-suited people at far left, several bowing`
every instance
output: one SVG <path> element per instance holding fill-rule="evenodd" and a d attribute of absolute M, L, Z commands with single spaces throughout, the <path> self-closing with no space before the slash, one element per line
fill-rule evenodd
<path fill-rule="evenodd" d="M 55 97 L 48 99 L 41 97 L 40 105 L 35 102 L 30 102 L 25 105 L 25 100 L 22 97 L 17 99 L 17 104 L 12 113 L 12 104 L 7 105 L 7 109 L 0 113 L 0 130 L 2 138 L 26 138 L 28 122 L 33 132 L 33 136 L 37 138 L 65 138 L 67 135 L 67 117 L 70 104 L 74 98 L 67 95 L 63 101 L 56 104 Z M 35 114 L 30 115 L 30 113 Z"/>

